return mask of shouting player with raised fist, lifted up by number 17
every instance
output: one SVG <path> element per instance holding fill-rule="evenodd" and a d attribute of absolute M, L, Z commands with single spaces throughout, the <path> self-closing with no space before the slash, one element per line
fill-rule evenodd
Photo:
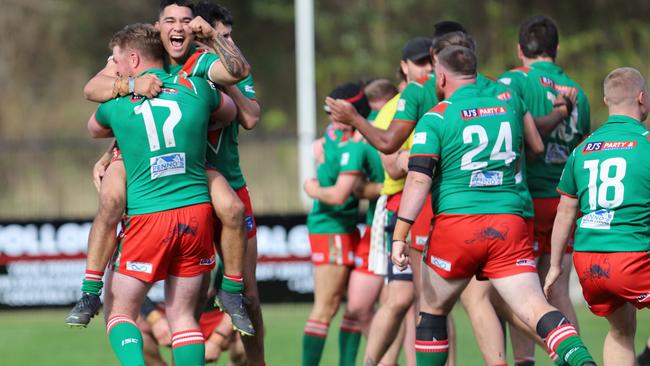
<path fill-rule="evenodd" d="M 206 55 L 202 63 L 195 66 L 194 74 L 203 74 L 219 85 L 233 84 L 245 77 L 250 70 L 247 62 L 232 43 L 216 33 L 212 27 L 201 18 L 193 18 L 193 4 L 184 0 L 163 0 L 159 8 L 159 20 L 156 26 L 160 29 L 161 39 L 165 46 L 166 67 L 169 72 L 176 74 L 181 71 L 184 62 L 192 52 L 194 33 L 212 43 L 212 47 L 220 53 L 220 57 Z M 200 66 L 200 67 L 199 67 Z M 214 67 L 213 67 L 214 66 Z M 143 75 L 145 77 L 146 75 Z M 155 75 L 146 80 L 155 79 Z M 126 82 L 125 82 L 126 81 Z M 126 85 L 126 88 L 125 88 Z M 107 66 L 86 85 L 84 92 L 89 100 L 106 101 L 118 95 L 128 95 L 135 92 L 136 80 L 131 77 L 119 76 L 113 60 L 109 59 Z M 144 96 L 155 96 L 159 88 L 146 92 Z M 237 98 L 236 98 L 237 99 Z M 96 164 L 99 174 L 108 159 L 104 157 Z M 66 319 L 68 325 L 85 326 L 91 317 L 99 311 L 99 293 L 102 287 L 102 276 L 105 263 L 115 247 L 115 228 L 124 210 L 124 166 L 119 154 L 111 161 L 103 174 L 100 190 L 100 207 L 93 222 L 89 236 L 87 272 L 82 285 L 82 297 Z M 115 173 L 113 173 L 115 172 Z M 225 301 L 226 311 L 233 315 L 233 323 L 238 329 L 247 334 L 253 334 L 254 329 L 243 306 L 241 292 L 244 289 L 242 280 L 242 264 L 244 255 L 244 210 L 245 206 L 230 188 L 227 181 L 216 171 L 209 170 L 210 190 L 215 202 L 215 210 L 223 230 L 221 233 L 221 248 L 226 268 L 224 291 L 219 297 Z M 96 179 L 98 184 L 99 179 Z"/>

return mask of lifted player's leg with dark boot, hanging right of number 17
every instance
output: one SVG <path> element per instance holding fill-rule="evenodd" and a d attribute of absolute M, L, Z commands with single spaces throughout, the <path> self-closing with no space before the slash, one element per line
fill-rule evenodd
<path fill-rule="evenodd" d="M 212 206 L 221 221 L 221 259 L 224 277 L 217 293 L 218 306 L 227 312 L 233 326 L 244 335 L 254 335 L 255 329 L 244 305 L 244 253 L 246 228 L 244 203 L 232 190 L 228 181 L 215 170 L 206 170 Z"/>

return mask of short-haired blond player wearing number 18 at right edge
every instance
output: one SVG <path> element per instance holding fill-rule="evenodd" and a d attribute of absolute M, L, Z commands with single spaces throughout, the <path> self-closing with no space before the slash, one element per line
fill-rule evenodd
<path fill-rule="evenodd" d="M 575 223 L 582 293 L 610 325 L 603 361 L 634 365 L 635 307 L 650 307 L 650 132 L 643 125 L 650 97 L 641 73 L 627 67 L 607 75 L 604 95 L 609 118 L 571 152 L 557 187 L 562 197 L 544 290 L 552 296 L 567 271 L 563 257 Z"/>

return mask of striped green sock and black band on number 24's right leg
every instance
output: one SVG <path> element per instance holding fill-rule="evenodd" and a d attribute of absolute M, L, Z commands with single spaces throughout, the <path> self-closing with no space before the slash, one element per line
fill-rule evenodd
<path fill-rule="evenodd" d="M 566 362 L 570 366 L 581 366 L 585 362 L 594 362 L 587 347 L 578 337 L 576 329 L 557 310 L 550 311 L 541 317 L 537 322 L 537 334 L 546 342 L 548 349 L 557 354 L 560 362 Z M 556 364 L 558 364 L 557 361 Z"/>

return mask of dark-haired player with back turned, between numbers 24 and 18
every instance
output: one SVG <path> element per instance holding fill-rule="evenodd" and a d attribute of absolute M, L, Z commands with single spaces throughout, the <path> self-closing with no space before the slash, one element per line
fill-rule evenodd
<path fill-rule="evenodd" d="M 548 270 L 551 231 L 560 199 L 555 187 L 569 153 L 589 134 L 591 120 L 585 93 L 555 63 L 558 44 L 555 23 L 546 16 L 531 17 L 519 29 L 518 56 L 523 67 L 499 77 L 499 81 L 521 95 L 534 117 L 553 113 L 554 109 L 567 109 L 568 112 L 568 116 L 559 122 L 535 121 L 545 149 L 544 154 L 527 165 L 528 188 L 535 206 L 533 246 L 536 256 L 540 257 L 541 278 Z M 568 108 L 558 104 L 561 99 L 570 100 Z M 564 260 L 565 265 L 570 266 L 571 247 L 567 248 Z M 569 272 L 564 272 L 563 278 L 555 284 L 550 302 L 577 326 L 575 310 L 569 299 Z"/>

